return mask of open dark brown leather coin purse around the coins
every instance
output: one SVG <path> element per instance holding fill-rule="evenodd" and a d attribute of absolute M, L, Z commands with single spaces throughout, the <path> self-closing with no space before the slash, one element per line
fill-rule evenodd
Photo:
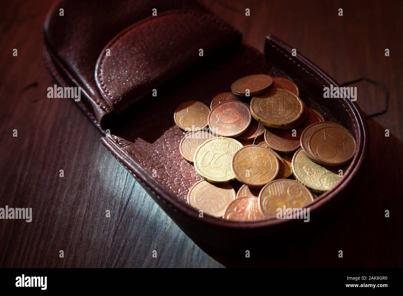
<path fill-rule="evenodd" d="M 210 106 L 215 95 L 230 91 L 231 83 L 246 75 L 291 79 L 308 107 L 345 126 L 357 140 L 342 180 L 307 205 L 311 221 L 332 215 L 348 195 L 367 147 L 365 119 L 349 99 L 324 99 L 323 88 L 339 83 L 301 53 L 292 56 L 291 47 L 276 37 L 266 37 L 262 54 L 202 4 L 186 0 L 56 1 L 43 35 L 49 71 L 59 86 L 81 87 L 76 103 L 104 133 L 102 144 L 213 257 L 230 258 L 241 250 L 244 257 L 245 248 L 259 248 L 273 235 L 309 230 L 302 221 L 275 217 L 256 222 L 199 217 L 187 205 L 189 188 L 201 178 L 179 153 L 184 132 L 173 114 L 184 101 Z"/>

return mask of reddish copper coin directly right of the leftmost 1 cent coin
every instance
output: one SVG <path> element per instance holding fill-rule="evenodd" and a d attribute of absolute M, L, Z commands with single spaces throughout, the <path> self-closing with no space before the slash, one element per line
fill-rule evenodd
<path fill-rule="evenodd" d="M 208 115 L 212 132 L 222 137 L 235 137 L 247 130 L 252 117 L 249 108 L 238 101 L 217 105 Z"/>

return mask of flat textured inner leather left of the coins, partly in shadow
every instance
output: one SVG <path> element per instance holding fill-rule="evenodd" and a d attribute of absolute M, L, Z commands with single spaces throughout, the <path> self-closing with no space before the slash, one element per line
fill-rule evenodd
<path fill-rule="evenodd" d="M 136 116 L 116 118 L 114 126 L 109 126 L 112 138 L 170 193 L 185 201 L 189 187 L 200 177 L 179 153 L 184 132 L 174 124 L 175 109 L 189 99 L 209 104 L 216 94 L 230 91 L 236 79 L 269 70 L 263 55 L 248 46 L 218 55 L 159 89 L 157 97 L 139 101 L 133 112 L 127 112 Z"/>

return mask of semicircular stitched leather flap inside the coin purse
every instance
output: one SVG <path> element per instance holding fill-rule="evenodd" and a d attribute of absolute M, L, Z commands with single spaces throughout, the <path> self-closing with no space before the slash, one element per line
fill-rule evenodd
<path fill-rule="evenodd" d="M 102 50 L 96 66 L 98 89 L 121 113 L 152 89 L 240 41 L 238 31 L 204 12 L 177 10 L 148 17 Z"/>

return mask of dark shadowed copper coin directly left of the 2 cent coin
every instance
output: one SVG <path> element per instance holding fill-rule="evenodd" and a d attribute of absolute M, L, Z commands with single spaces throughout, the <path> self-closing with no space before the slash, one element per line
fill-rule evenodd
<path fill-rule="evenodd" d="M 279 153 L 290 153 L 299 148 L 299 137 L 293 137 L 293 130 L 268 128 L 264 133 L 267 145 Z"/>

